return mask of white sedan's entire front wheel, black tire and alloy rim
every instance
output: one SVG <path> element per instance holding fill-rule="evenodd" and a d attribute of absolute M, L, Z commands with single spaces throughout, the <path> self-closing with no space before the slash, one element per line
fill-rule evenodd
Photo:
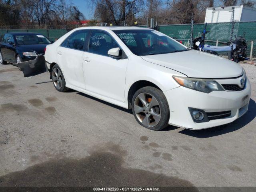
<path fill-rule="evenodd" d="M 168 102 L 157 88 L 148 86 L 139 89 L 132 98 L 132 112 L 136 121 L 145 128 L 159 131 L 168 126 Z"/>

